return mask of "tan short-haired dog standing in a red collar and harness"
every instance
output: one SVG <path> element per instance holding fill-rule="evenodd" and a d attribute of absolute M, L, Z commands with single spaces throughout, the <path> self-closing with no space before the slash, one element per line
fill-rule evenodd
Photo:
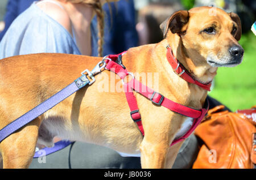
<path fill-rule="evenodd" d="M 207 91 L 181 79 L 166 58 L 169 44 L 177 59 L 203 83 L 213 80 L 217 67 L 241 63 L 238 44 L 241 23 L 234 13 L 197 7 L 175 12 L 163 25 L 158 44 L 131 48 L 123 55 L 130 72 L 158 72 L 159 92 L 172 101 L 200 109 Z M 92 70 L 102 58 L 68 54 L 19 55 L 0 61 L 0 129 Z M 104 71 L 110 76 L 110 71 Z M 142 168 L 171 168 L 182 143 L 170 147 L 185 117 L 155 106 L 136 93 L 145 135 L 131 120 L 123 92 L 99 92 L 110 79 L 80 89 L 20 128 L 0 144 L 3 168 L 27 168 L 37 140 L 51 146 L 53 136 L 104 145 L 118 152 L 141 153 Z M 137 76 L 135 76 L 139 80 Z M 153 82 L 154 83 L 154 82 Z"/>

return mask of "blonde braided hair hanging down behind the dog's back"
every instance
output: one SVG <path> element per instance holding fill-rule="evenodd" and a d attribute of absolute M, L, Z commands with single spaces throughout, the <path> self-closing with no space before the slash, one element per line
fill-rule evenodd
<path fill-rule="evenodd" d="M 98 27 L 98 56 L 102 57 L 103 43 L 104 43 L 104 11 L 100 0 L 66 0 L 71 3 L 85 3 L 92 6 L 97 15 L 97 27 Z M 108 2 L 108 0 L 106 0 Z M 108 2 L 109 3 L 109 2 Z"/>

